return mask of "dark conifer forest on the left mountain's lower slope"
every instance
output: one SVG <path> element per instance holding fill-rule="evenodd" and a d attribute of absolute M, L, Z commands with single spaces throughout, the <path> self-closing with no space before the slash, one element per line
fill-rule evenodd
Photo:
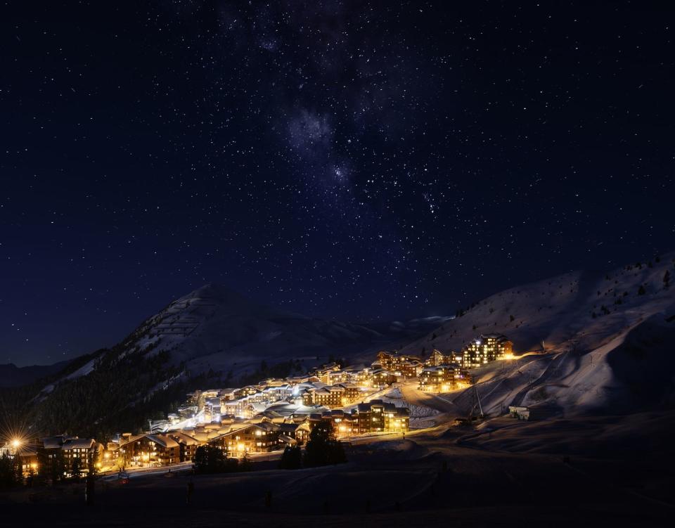
<path fill-rule="evenodd" d="M 185 401 L 186 392 L 208 385 L 215 376 L 191 376 L 183 364 L 169 361 L 168 352 L 122 352 L 103 349 L 78 358 L 58 375 L 2 389 L 4 427 L 30 437 L 65 433 L 105 442 L 115 432 L 140 432 L 148 419 L 166 418 Z M 91 373 L 66 379 L 90 361 Z M 44 390 L 50 385 L 51 390 Z"/>

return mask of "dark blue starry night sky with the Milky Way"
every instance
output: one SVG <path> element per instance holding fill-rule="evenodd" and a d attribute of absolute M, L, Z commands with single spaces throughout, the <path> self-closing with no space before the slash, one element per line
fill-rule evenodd
<path fill-rule="evenodd" d="M 675 247 L 675 6 L 0 7 L 0 362 L 113 345 L 210 282 L 454 314 Z"/>

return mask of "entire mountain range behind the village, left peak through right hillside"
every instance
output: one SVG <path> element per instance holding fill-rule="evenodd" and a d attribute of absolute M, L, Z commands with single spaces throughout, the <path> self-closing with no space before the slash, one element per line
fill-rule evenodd
<path fill-rule="evenodd" d="M 329 356 L 371 361 L 379 349 L 427 355 L 494 332 L 506 334 L 515 354 L 525 355 L 475 371 L 483 410 L 491 416 L 508 405 L 549 404 L 566 416 L 668 406 L 675 394 L 671 275 L 675 253 L 609 273 L 566 273 L 510 288 L 454 318 L 378 324 L 293 314 L 206 285 L 115 347 L 72 361 L 39 394 L 26 395 L 32 408 L 25 414 L 49 430 L 95 424 L 105 431 L 165 411 L 191 386 L 255 377 L 263 362 L 293 360 L 293 368 L 307 370 Z M 472 388 L 444 399 L 461 415 L 475 404 L 475 393 Z M 79 407 L 70 406 L 73 398 Z"/>

